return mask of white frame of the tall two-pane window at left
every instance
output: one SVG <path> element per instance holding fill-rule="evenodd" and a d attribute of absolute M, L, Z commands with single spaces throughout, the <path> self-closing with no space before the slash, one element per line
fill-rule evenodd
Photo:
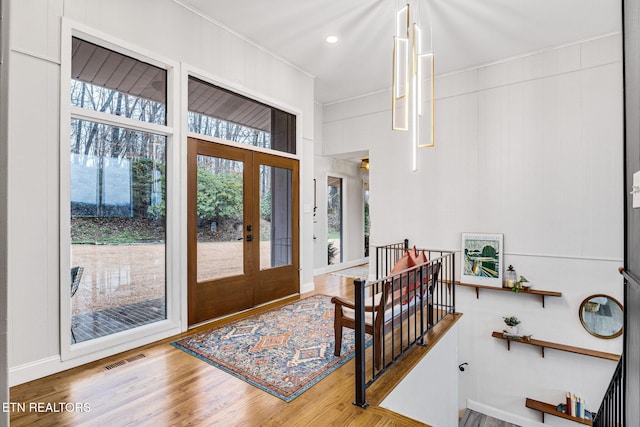
<path fill-rule="evenodd" d="M 180 195 L 180 135 L 179 111 L 179 64 L 101 33 L 70 19 L 63 18 L 61 31 L 60 61 L 60 357 L 71 365 L 79 365 L 97 360 L 131 348 L 167 338 L 186 330 L 181 322 L 182 271 L 186 270 L 179 253 L 181 228 L 179 217 Z M 147 62 L 167 70 L 167 124 L 161 126 L 131 120 L 112 114 L 90 111 L 71 105 L 71 40 L 78 37 L 95 43 L 132 58 Z M 70 248 L 70 160 L 69 135 L 71 120 L 89 120 L 112 126 L 123 126 L 138 131 L 149 132 L 166 137 L 167 180 L 166 180 L 166 243 L 165 243 L 165 283 L 166 283 L 166 319 L 152 324 L 140 326 L 127 331 L 96 338 L 93 340 L 71 343 L 71 298 L 69 295 L 69 268 L 71 265 Z M 186 274 L 186 273 L 185 273 Z"/>

